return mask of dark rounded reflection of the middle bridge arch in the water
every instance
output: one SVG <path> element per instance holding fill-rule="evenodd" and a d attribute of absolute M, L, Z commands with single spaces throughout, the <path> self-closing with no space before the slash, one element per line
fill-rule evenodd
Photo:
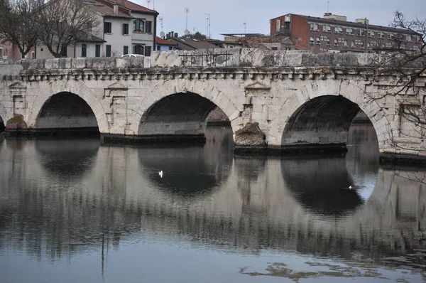
<path fill-rule="evenodd" d="M 231 133 L 219 136 L 219 140 L 209 137 L 208 132 L 216 130 L 207 129 L 204 146 L 139 148 L 143 176 L 153 186 L 171 195 L 200 196 L 217 190 L 228 178 L 233 142 Z M 224 154 L 217 153 L 223 151 Z M 160 170 L 164 173 L 163 178 L 158 176 Z"/>

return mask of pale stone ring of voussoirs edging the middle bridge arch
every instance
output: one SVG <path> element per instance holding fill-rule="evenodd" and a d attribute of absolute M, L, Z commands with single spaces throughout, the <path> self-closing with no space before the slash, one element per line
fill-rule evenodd
<path fill-rule="evenodd" d="M 231 127 L 235 132 L 236 129 L 241 127 L 239 124 L 239 113 L 240 110 L 234 102 L 226 95 L 225 92 L 219 90 L 218 87 L 210 85 L 202 80 L 168 80 L 163 84 L 154 87 L 149 90 L 150 95 L 143 95 L 143 100 L 139 102 L 136 109 L 133 109 L 133 122 L 131 123 L 131 130 L 135 134 L 138 133 L 139 124 L 143 119 L 143 115 L 153 107 L 157 102 L 162 100 L 164 97 L 175 94 L 186 94 L 192 93 L 200 95 L 214 105 L 219 107 L 229 118 Z"/>

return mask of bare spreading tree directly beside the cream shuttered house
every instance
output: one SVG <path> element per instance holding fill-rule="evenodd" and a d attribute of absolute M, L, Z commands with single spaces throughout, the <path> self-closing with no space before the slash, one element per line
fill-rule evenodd
<path fill-rule="evenodd" d="M 82 0 L 50 0 L 39 17 L 40 41 L 56 58 L 66 54 L 68 46 L 92 38 L 100 22 Z"/>

